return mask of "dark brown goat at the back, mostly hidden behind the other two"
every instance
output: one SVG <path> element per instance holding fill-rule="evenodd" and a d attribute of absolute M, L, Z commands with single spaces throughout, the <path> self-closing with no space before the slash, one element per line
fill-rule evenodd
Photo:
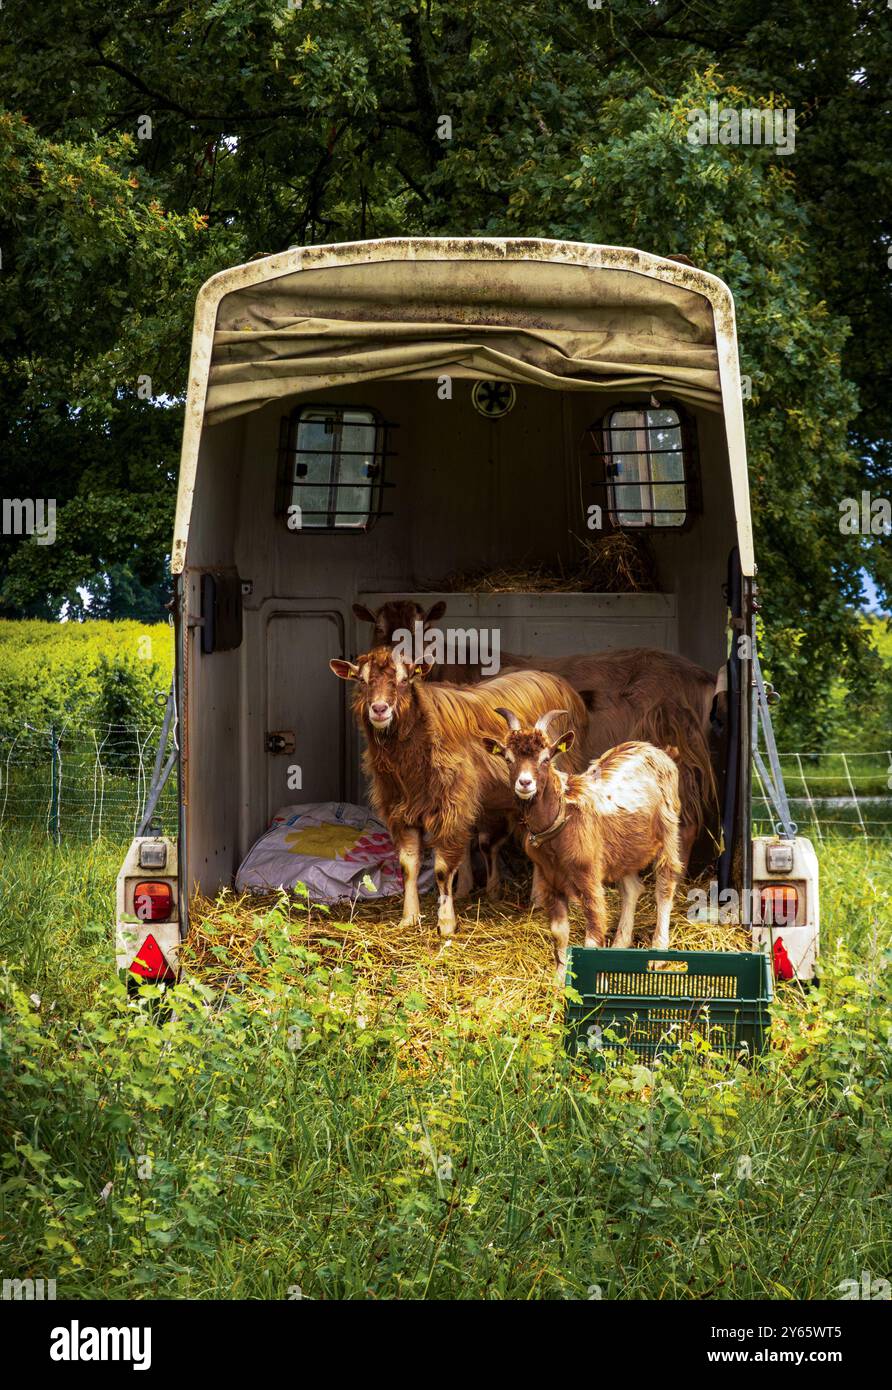
<path fill-rule="evenodd" d="M 445 612 L 442 599 L 427 613 L 414 599 L 392 599 L 377 613 L 361 603 L 353 605 L 354 616 L 372 624 L 377 645 L 393 642 L 395 632 L 414 634 L 417 623 L 424 632 Z M 716 677 L 686 656 L 646 646 L 579 656 L 502 652 L 500 663 L 504 671 L 560 676 L 581 694 L 589 710 L 585 746 L 589 759 L 629 739 L 678 748 L 681 858 L 686 865 L 700 830 L 714 821 L 718 809 L 709 745 Z M 472 684 L 481 680 L 481 666 L 435 666 L 431 680 Z"/>

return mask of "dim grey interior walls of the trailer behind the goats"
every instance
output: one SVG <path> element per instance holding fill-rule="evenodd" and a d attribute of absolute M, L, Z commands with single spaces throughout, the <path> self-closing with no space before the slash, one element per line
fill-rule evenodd
<path fill-rule="evenodd" d="M 574 537 L 586 537 L 585 506 L 603 500 L 585 432 L 611 404 L 599 395 L 517 389 L 514 410 L 497 423 L 471 404 L 471 382 L 456 379 L 453 399 L 435 381 L 375 382 L 310 398 L 372 406 L 392 421 L 382 517 L 368 532 L 289 531 L 275 513 L 279 423 L 276 403 L 203 431 L 186 556 L 189 614 L 200 614 L 200 573 L 235 566 L 251 585 L 243 599 L 243 641 L 232 652 L 201 655 L 200 628 L 188 631 L 183 709 L 189 876 L 206 891 L 229 881 L 242 855 L 279 805 L 363 795 L 357 741 L 343 682 L 329 656 L 368 641 L 352 605 L 361 595 L 418 594 L 454 570 L 506 563 L 572 564 Z M 717 670 L 725 659 L 724 599 L 734 506 L 721 416 L 697 411 L 702 513 L 691 527 L 649 528 L 661 595 L 654 628 L 691 659 Z M 582 488 L 581 488 L 582 482 Z M 517 599 L 517 595 L 511 596 Z M 547 596 L 545 596 L 547 599 Z M 635 606 L 638 600 L 638 607 Z M 543 596 L 529 599 L 529 610 Z M 585 600 L 584 600 L 585 602 Z M 586 603 L 574 614 L 572 649 L 652 645 L 641 638 L 641 596 Z M 457 626 L 461 599 L 453 599 Z M 445 620 L 449 621 L 449 617 Z M 503 645 L 511 646 L 509 635 Z M 271 755 L 267 733 L 290 730 L 293 755 Z M 303 790 L 289 787 L 302 767 Z"/>

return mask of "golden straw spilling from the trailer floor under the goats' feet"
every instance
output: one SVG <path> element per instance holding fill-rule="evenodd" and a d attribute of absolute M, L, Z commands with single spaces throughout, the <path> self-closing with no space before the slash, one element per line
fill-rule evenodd
<path fill-rule="evenodd" d="M 607 897 L 613 929 L 618 894 L 609 890 Z M 258 947 L 267 944 L 264 915 L 275 902 L 275 894 L 222 892 L 217 899 L 193 899 L 183 948 L 186 973 L 224 992 L 251 994 L 251 987 L 263 987 L 270 966 L 264 963 L 265 949 Z M 463 899 L 449 945 L 436 933 L 435 895 L 422 898 L 424 922 L 417 927 L 399 926 L 396 898 L 360 902 L 353 910 L 345 903 L 328 912 L 292 899 L 286 910 L 293 942 L 318 954 L 324 966 L 352 969 L 349 1008 L 357 1015 L 379 1017 L 382 1011 L 415 1001 L 413 1033 L 424 1045 L 446 1020 L 470 1034 L 506 1024 L 511 1031 L 524 1031 L 560 1020 L 563 997 L 554 983 L 552 937 L 543 913 L 528 903 L 528 880 L 506 884 L 500 902 L 478 894 Z M 684 908 L 681 890 L 670 930 L 672 949 L 749 949 L 742 927 L 691 923 Z M 636 945 L 649 944 L 654 913 L 649 885 L 638 905 Z M 582 944 L 585 929 L 578 909 L 571 910 L 571 941 Z M 260 992 L 257 1001 L 260 1006 Z"/>

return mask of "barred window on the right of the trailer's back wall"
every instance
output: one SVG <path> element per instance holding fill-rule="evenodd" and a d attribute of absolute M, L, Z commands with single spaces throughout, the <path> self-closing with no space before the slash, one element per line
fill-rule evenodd
<path fill-rule="evenodd" d="M 611 410 L 603 421 L 607 510 L 617 527 L 688 520 L 689 431 L 674 409 Z"/>

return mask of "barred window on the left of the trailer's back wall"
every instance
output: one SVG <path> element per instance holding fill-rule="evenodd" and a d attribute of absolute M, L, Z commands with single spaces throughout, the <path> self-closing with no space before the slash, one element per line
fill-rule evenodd
<path fill-rule="evenodd" d="M 276 510 L 290 530 L 368 530 L 381 512 L 383 432 L 363 406 L 300 406 L 282 421 Z"/>

